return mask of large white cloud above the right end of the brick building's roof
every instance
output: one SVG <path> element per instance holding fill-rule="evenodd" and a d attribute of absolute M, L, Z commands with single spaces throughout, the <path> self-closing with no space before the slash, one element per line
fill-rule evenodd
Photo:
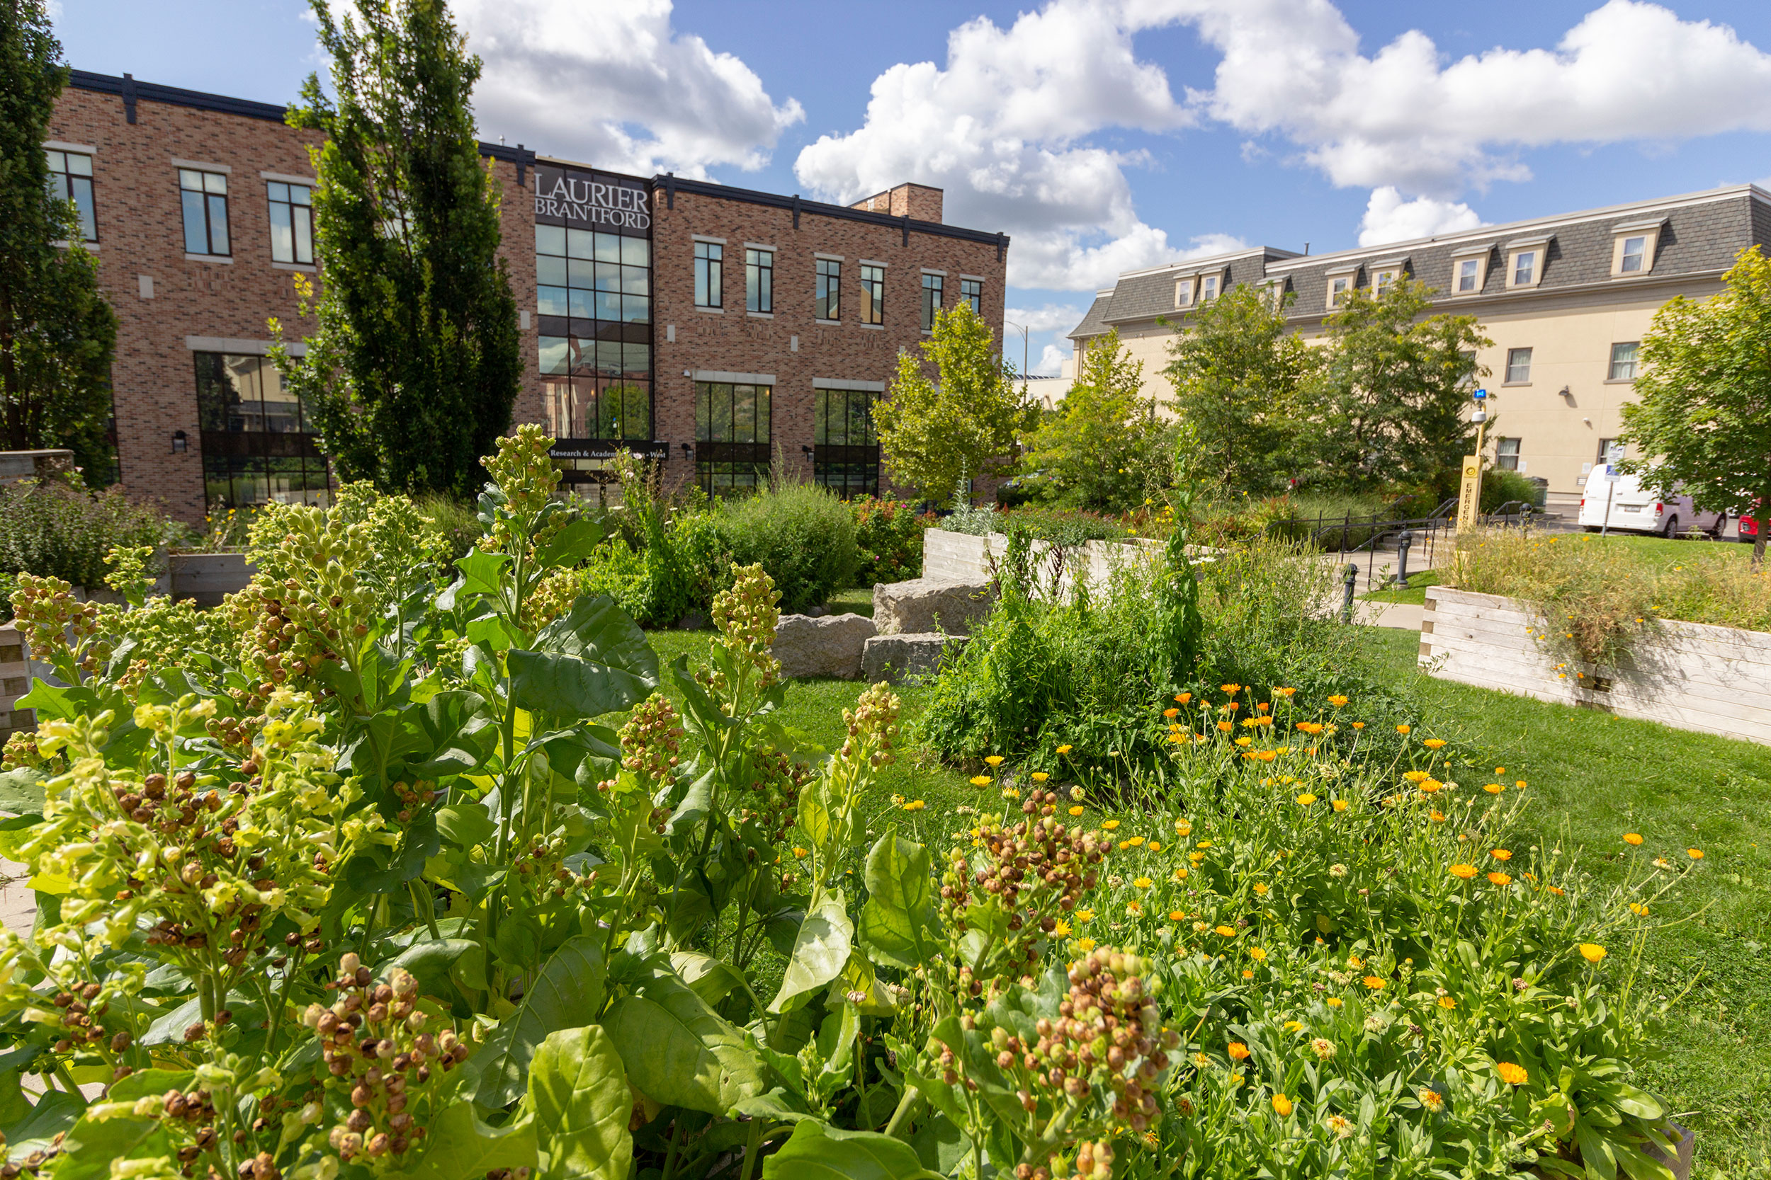
<path fill-rule="evenodd" d="M 1086 290 L 1167 262 L 1125 170 L 1137 152 L 1087 142 L 1110 127 L 1174 131 L 1194 115 L 1162 67 L 1132 48 L 1119 5 L 1050 0 L 999 28 L 985 18 L 947 35 L 946 65 L 893 65 L 873 80 L 864 124 L 800 150 L 795 172 L 850 202 L 903 180 L 946 189 L 949 223 L 1015 237 L 1009 281 Z"/>

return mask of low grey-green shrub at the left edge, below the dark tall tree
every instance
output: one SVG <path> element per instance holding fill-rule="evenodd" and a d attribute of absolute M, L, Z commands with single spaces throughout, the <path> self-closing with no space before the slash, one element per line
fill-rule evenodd
<path fill-rule="evenodd" d="M 104 554 L 147 545 L 161 548 L 188 529 L 135 504 L 122 488 L 89 492 L 69 483 L 14 483 L 0 488 L 0 573 L 35 573 L 74 586 L 104 586 Z"/>

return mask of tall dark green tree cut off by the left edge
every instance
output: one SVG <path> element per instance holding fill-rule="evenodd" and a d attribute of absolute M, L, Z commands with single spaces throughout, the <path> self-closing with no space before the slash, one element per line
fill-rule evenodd
<path fill-rule="evenodd" d="M 117 317 L 73 202 L 50 189 L 43 142 L 66 85 L 43 2 L 0 0 L 0 446 L 71 448 L 97 481 Z"/>

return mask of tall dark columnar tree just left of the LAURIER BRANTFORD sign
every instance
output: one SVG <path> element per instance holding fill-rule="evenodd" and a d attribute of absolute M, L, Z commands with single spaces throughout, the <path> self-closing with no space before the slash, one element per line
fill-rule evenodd
<path fill-rule="evenodd" d="M 480 58 L 443 0 L 354 0 L 342 21 L 312 5 L 336 101 L 310 76 L 289 122 L 328 136 L 319 327 L 280 364 L 344 478 L 466 495 L 522 377 L 499 186 L 469 106 Z"/>

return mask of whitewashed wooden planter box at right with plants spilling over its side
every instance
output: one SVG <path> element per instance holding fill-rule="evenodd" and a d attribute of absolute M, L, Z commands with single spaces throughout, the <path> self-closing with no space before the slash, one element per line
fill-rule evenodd
<path fill-rule="evenodd" d="M 1539 619 L 1514 598 L 1431 586 L 1420 665 L 1440 679 L 1771 745 L 1764 632 L 1661 621 L 1617 667 L 1569 663 L 1562 679 L 1527 630 Z"/>

